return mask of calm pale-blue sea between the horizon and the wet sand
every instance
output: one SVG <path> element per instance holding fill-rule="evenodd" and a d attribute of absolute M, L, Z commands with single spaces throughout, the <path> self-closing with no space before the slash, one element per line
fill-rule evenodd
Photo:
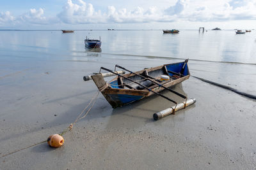
<path fill-rule="evenodd" d="M 86 36 L 102 47 L 84 48 Z M 93 73 L 115 64 L 137 71 L 183 59 L 192 75 L 256 95 L 256 31 L 0 31 L 0 85 L 23 72 L 33 79 L 36 71 Z"/>

